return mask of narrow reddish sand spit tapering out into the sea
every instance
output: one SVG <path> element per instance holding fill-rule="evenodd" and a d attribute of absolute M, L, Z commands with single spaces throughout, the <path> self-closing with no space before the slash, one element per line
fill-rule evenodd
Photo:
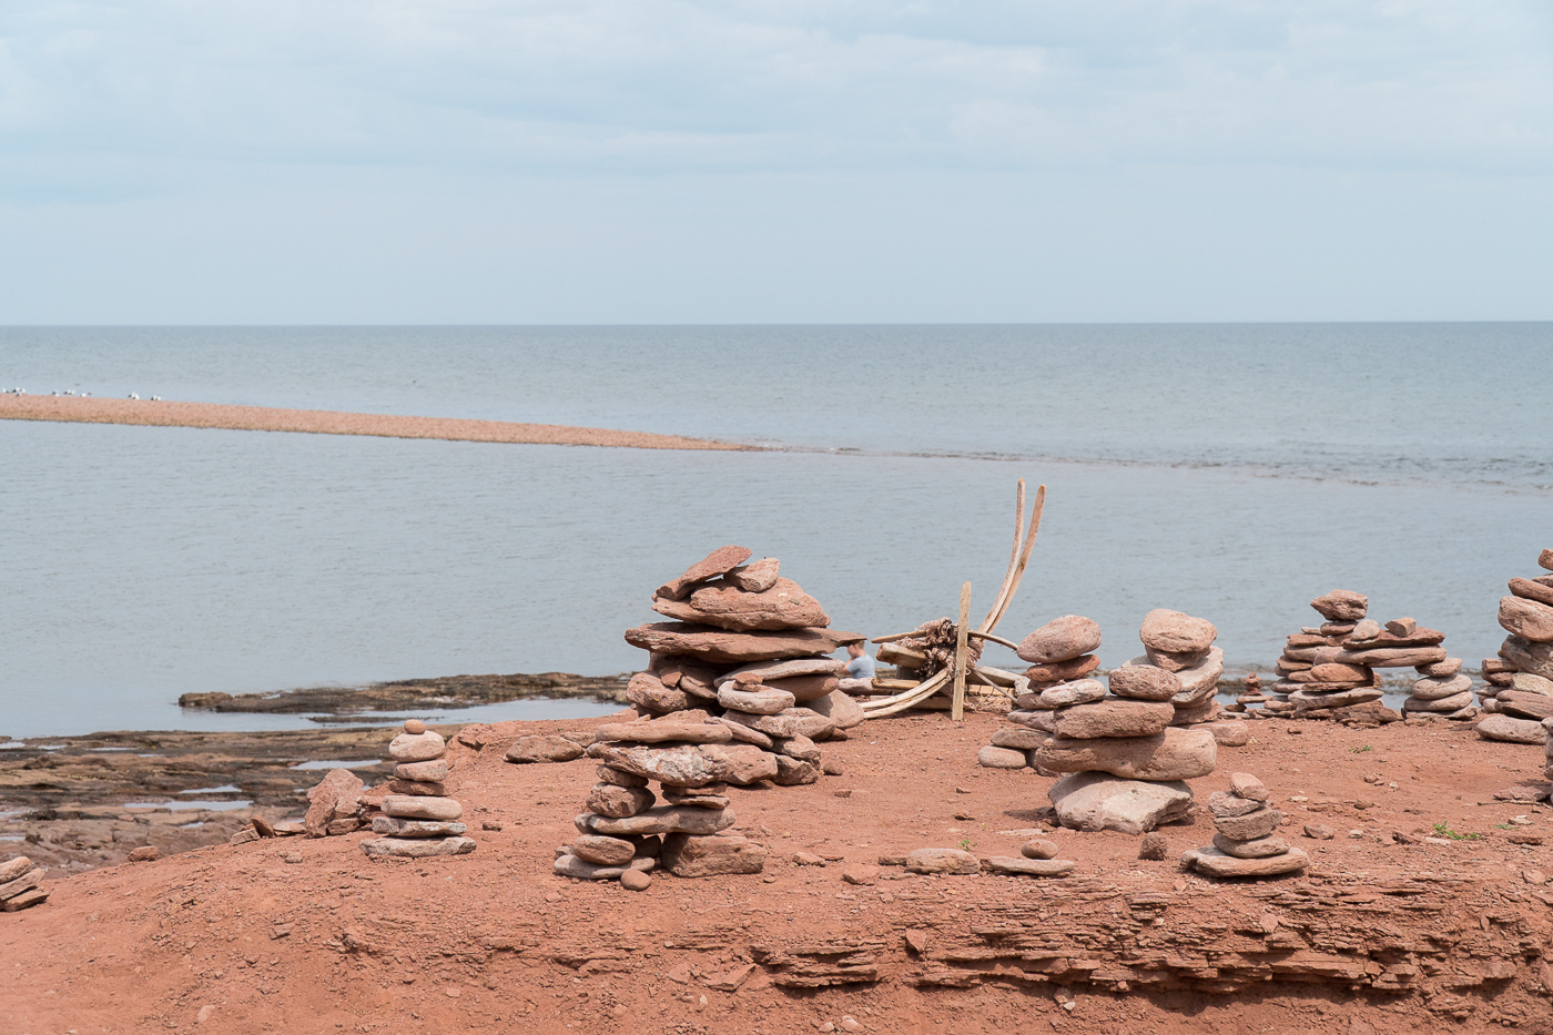
<path fill-rule="evenodd" d="M 0 395 L 0 420 L 70 421 L 78 424 L 148 424 L 155 427 L 224 427 L 228 430 L 284 430 L 314 435 L 379 435 L 384 438 L 443 438 L 447 441 L 502 441 L 540 446 L 613 446 L 623 449 L 721 449 L 755 446 L 652 435 L 648 432 L 514 424 L 450 416 L 396 416 L 334 410 L 278 410 L 266 406 L 166 402 L 152 399 L 98 399 L 65 395 Z"/>

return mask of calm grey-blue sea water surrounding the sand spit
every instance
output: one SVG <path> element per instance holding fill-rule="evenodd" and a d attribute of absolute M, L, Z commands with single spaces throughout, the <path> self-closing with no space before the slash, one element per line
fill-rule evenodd
<path fill-rule="evenodd" d="M 0 421 L 0 734 L 287 723 L 186 715 L 189 690 L 626 671 L 651 589 L 722 542 L 901 631 L 963 580 L 991 603 L 1019 477 L 1050 496 L 1011 639 L 1089 614 L 1118 664 L 1169 606 L 1266 668 L 1343 586 L 1475 665 L 1553 545 L 1547 384 L 1553 325 L 0 329 L 0 387 L 33 393 L 789 448 Z"/>

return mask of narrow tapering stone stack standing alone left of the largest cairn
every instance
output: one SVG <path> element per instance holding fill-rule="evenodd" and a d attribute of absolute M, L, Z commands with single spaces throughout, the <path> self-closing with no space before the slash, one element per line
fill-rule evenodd
<path fill-rule="evenodd" d="M 421 720 L 408 720 L 388 744 L 394 761 L 388 794 L 377 800 L 373 833 L 362 842 L 367 855 L 422 859 L 433 855 L 467 855 L 475 842 L 464 838 L 458 817 L 464 807 L 447 797 L 447 743 Z M 376 799 L 376 796 L 373 796 Z"/>

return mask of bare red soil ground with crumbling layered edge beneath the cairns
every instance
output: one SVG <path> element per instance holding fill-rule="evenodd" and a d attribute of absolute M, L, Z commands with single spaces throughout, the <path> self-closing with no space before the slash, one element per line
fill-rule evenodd
<path fill-rule="evenodd" d="M 731 791 L 764 875 L 640 894 L 550 869 L 593 763 L 502 761 L 520 732 L 592 723 L 502 724 L 450 752 L 471 856 L 287 838 L 51 881 L 45 904 L 0 914 L 0 1032 L 1553 1030 L 1553 886 L 1531 883 L 1553 873 L 1553 813 L 1492 797 L 1541 779 L 1541 748 L 1444 723 L 1256 723 L 1193 783 L 1202 799 L 1258 774 L 1311 852 L 1294 878 L 1182 873 L 1211 836 L 1197 816 L 1166 828 L 1163 862 L 1138 861 L 1138 838 L 1058 830 L 1070 878 L 843 883 L 924 845 L 1019 855 L 1051 780 L 975 765 L 997 724 L 865 723 L 822 744 L 845 775 Z M 1300 838 L 1308 822 L 1336 839 Z M 1424 841 L 1437 824 L 1478 838 Z"/>

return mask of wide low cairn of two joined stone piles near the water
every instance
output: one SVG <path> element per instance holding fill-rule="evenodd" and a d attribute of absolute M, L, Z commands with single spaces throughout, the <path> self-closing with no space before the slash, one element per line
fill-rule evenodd
<path fill-rule="evenodd" d="M 1311 601 L 1325 622 L 1291 636 L 1275 665 L 1280 679 L 1267 690 L 1277 695 L 1263 704 L 1267 712 L 1291 718 L 1364 718 L 1374 712 L 1385 690 L 1378 668 L 1418 673 L 1402 713 L 1468 720 L 1472 678 L 1461 673 L 1461 659 L 1447 657 L 1446 634 L 1426 629 L 1413 619 L 1384 626 L 1368 619 L 1370 598 L 1350 589 L 1334 589 Z M 1390 716 L 1395 721 L 1395 713 Z"/>

